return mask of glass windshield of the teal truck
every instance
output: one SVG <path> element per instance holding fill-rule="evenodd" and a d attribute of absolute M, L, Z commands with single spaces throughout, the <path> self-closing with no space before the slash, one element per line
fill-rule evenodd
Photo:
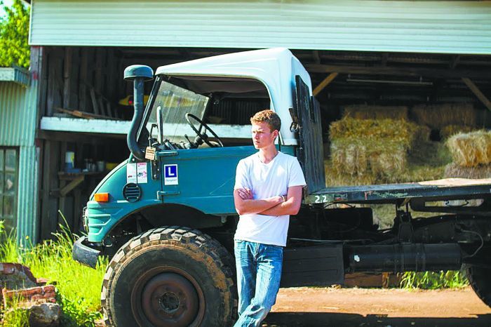
<path fill-rule="evenodd" d="M 150 131 L 152 124 L 156 124 L 157 114 L 160 111 L 163 125 L 162 140 L 168 139 L 170 142 L 179 142 L 185 134 L 194 136 L 194 131 L 187 124 L 184 115 L 189 112 L 203 119 L 208 100 L 210 98 L 205 95 L 161 81 L 152 105 L 152 112 L 147 121 L 147 129 Z M 159 107 L 161 109 L 157 110 Z M 154 128 L 154 135 L 152 136 L 156 137 L 157 133 L 158 131 Z"/>

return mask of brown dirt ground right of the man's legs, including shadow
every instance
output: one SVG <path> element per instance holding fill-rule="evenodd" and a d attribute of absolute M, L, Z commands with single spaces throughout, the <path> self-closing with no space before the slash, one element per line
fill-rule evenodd
<path fill-rule="evenodd" d="M 263 326 L 491 326 L 491 309 L 471 288 L 405 291 L 282 288 Z"/>

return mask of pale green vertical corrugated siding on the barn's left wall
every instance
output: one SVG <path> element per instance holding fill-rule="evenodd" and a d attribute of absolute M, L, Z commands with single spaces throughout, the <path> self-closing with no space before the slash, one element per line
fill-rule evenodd
<path fill-rule="evenodd" d="M 19 149 L 17 235 L 37 240 L 39 151 L 36 131 L 37 81 L 29 87 L 0 82 L 0 146 Z"/>

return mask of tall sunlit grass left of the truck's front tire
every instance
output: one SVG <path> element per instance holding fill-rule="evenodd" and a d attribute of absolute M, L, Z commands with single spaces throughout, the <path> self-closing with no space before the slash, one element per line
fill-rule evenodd
<path fill-rule="evenodd" d="M 107 260 L 100 258 L 96 269 L 80 265 L 72 259 L 72 246 L 77 236 L 60 226 L 52 240 L 36 246 L 19 244 L 15 234 L 6 234 L 0 226 L 4 241 L 0 245 L 0 262 L 26 265 L 36 277 L 56 282 L 58 303 L 62 306 L 61 326 L 95 326 L 100 313 L 100 288 Z M 13 325 L 14 326 L 14 325 Z"/>

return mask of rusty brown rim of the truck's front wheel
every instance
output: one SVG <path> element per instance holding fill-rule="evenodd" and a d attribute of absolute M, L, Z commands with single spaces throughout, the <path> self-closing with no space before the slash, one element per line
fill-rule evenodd
<path fill-rule="evenodd" d="M 141 276 L 131 305 L 140 326 L 199 326 L 204 316 L 203 291 L 189 274 L 174 267 Z"/>

